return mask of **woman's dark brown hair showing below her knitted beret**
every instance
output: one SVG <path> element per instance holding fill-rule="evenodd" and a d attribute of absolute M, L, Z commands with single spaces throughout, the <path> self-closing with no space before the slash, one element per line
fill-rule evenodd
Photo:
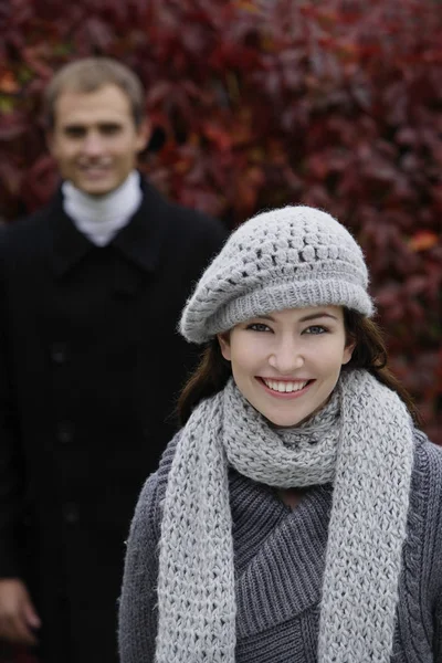
<path fill-rule="evenodd" d="M 420 415 L 411 396 L 387 368 L 387 348 L 380 327 L 360 313 L 347 308 L 344 308 L 344 323 L 348 344 L 356 343 L 356 346 L 351 359 L 343 366 L 343 370 L 348 371 L 355 368 L 368 370 L 379 382 L 398 393 L 413 421 L 420 423 Z M 220 344 L 214 338 L 206 347 L 200 365 L 188 380 L 178 400 L 181 424 L 187 422 L 192 410 L 201 400 L 221 391 L 231 375 L 230 361 L 223 358 Z"/>

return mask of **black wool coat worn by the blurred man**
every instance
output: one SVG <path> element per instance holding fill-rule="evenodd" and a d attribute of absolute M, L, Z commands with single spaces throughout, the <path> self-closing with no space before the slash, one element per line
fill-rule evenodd
<path fill-rule="evenodd" d="M 44 663 L 113 663 L 124 541 L 197 360 L 180 312 L 227 232 L 144 183 L 104 248 L 61 193 L 0 231 L 0 578 L 30 587 Z"/>

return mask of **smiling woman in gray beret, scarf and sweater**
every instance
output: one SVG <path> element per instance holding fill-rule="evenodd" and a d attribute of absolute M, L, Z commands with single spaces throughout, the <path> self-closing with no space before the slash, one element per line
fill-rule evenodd
<path fill-rule="evenodd" d="M 122 663 L 442 662 L 442 454 L 329 214 L 236 230 L 180 330 L 208 347 L 141 492 Z"/>

